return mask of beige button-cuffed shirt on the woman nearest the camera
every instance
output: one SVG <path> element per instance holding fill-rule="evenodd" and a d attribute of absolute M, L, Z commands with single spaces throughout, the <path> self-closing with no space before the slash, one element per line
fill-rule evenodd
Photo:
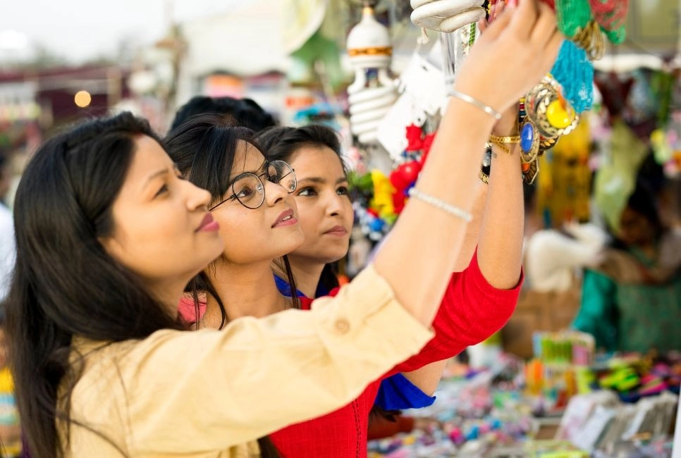
<path fill-rule="evenodd" d="M 66 456 L 257 457 L 255 439 L 342 407 L 431 337 L 369 266 L 311 311 L 75 339 L 85 366 L 71 415 L 106 439 L 71 424 Z"/>

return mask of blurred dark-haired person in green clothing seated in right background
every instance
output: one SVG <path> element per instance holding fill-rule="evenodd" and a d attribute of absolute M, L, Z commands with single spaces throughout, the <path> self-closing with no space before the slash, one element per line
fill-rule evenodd
<path fill-rule="evenodd" d="M 609 352 L 681 348 L 681 233 L 665 228 L 642 180 L 613 235 L 599 266 L 584 273 L 575 328 Z"/>

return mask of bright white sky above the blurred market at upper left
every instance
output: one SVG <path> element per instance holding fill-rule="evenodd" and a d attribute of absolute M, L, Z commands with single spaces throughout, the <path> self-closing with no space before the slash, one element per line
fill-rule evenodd
<path fill-rule="evenodd" d="M 27 48 L 20 48 L 25 38 L 73 62 L 111 56 L 122 39 L 144 44 L 162 37 L 170 15 L 187 20 L 250 1 L 1 0 L 0 61 L 24 56 Z"/>

